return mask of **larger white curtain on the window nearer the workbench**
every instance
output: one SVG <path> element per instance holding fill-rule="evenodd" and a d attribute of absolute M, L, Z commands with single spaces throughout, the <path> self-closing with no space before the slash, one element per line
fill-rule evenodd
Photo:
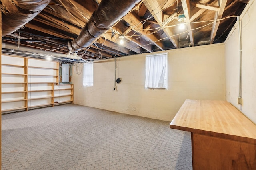
<path fill-rule="evenodd" d="M 146 88 L 166 88 L 167 53 L 146 56 Z"/>

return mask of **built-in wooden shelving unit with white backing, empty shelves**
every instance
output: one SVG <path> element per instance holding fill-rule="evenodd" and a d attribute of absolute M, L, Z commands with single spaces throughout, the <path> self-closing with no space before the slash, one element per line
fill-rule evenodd
<path fill-rule="evenodd" d="M 58 62 L 2 55 L 1 66 L 2 113 L 73 102 L 73 84 L 59 85 Z"/>

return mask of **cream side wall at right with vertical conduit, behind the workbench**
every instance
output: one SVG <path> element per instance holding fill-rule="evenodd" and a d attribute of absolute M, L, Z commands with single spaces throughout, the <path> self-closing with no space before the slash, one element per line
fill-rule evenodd
<path fill-rule="evenodd" d="M 256 2 L 251 0 L 242 19 L 242 106 L 239 92 L 239 39 L 237 23 L 225 42 L 226 100 L 256 123 Z"/>

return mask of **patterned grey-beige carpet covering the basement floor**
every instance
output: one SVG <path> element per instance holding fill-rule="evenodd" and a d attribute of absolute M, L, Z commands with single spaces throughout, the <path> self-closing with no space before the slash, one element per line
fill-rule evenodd
<path fill-rule="evenodd" d="M 75 104 L 2 115 L 2 170 L 192 170 L 190 133 Z"/>

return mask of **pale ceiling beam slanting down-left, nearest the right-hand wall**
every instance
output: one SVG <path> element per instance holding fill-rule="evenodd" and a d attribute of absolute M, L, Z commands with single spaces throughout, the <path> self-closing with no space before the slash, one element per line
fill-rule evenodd
<path fill-rule="evenodd" d="M 213 43 L 214 38 L 216 36 L 216 33 L 218 31 L 218 27 L 220 25 L 220 19 L 222 18 L 224 9 L 226 7 L 226 3 L 228 0 L 221 0 L 220 1 L 220 10 L 215 12 L 214 16 L 214 23 L 212 24 L 212 32 L 211 32 L 211 37 L 210 37 L 210 44 Z"/>

